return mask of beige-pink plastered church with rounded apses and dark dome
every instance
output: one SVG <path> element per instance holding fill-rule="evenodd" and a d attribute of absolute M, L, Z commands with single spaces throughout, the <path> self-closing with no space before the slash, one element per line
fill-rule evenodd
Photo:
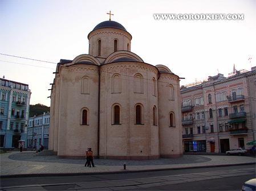
<path fill-rule="evenodd" d="M 180 78 L 131 52 L 132 35 L 107 20 L 88 34 L 89 53 L 60 60 L 51 84 L 49 150 L 84 159 L 182 156 Z"/>

